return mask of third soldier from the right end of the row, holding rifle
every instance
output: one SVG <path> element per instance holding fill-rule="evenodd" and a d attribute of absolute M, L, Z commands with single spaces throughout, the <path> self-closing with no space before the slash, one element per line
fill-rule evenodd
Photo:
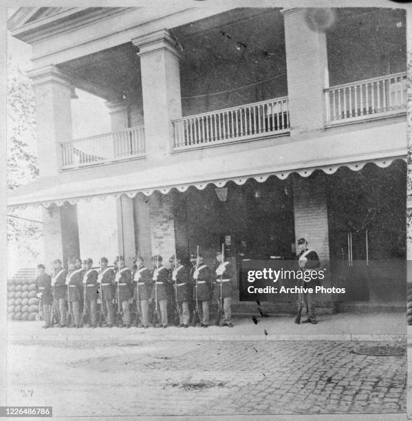
<path fill-rule="evenodd" d="M 179 313 L 179 326 L 189 327 L 189 271 L 186 266 L 182 265 L 180 256 L 172 256 L 169 261 L 173 268 L 172 282 L 175 285 L 175 294 L 177 294 L 177 312 Z"/>

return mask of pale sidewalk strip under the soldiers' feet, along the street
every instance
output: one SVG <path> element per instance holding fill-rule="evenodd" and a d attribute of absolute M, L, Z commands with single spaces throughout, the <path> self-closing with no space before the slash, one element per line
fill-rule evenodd
<path fill-rule="evenodd" d="M 302 320 L 305 317 L 303 316 Z M 320 316 L 318 324 L 296 325 L 294 316 L 234 319 L 235 327 L 130 329 L 113 327 L 44 330 L 43 322 L 8 322 L 8 341 L 406 341 L 404 312 L 340 313 Z"/>

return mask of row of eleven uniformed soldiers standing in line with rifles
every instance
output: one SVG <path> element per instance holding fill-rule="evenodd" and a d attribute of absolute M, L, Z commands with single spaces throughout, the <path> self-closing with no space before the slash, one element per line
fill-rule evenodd
<path fill-rule="evenodd" d="M 175 325 L 188 327 L 191 323 L 208 327 L 209 303 L 213 297 L 217 301 L 216 324 L 232 327 L 230 308 L 235 274 L 222 252 L 217 252 L 216 260 L 215 268 L 210 269 L 197 252 L 191 255 L 189 268 L 182 263 L 182 257 L 172 256 L 168 269 L 163 266 L 162 256 L 155 255 L 150 270 L 139 255 L 133 268 L 125 266 L 122 256 L 116 257 L 113 266 L 102 257 L 100 268 L 93 267 L 92 259 L 69 259 L 67 272 L 61 260 L 56 259 L 52 263 L 52 276 L 39 265 L 36 288 L 45 321 L 43 327 L 51 327 L 56 321 L 60 327 L 69 327 L 68 319 L 72 319 L 74 327 L 83 327 L 85 316 L 93 328 L 130 327 L 132 323 L 144 328 L 167 327 L 170 307 L 173 307 Z M 191 300 L 195 303 L 192 320 Z M 149 309 L 153 314 L 151 320 Z"/>

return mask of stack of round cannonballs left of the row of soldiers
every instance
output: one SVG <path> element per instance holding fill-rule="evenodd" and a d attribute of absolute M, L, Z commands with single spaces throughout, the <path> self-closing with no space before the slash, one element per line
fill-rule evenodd
<path fill-rule="evenodd" d="M 37 320 L 39 299 L 36 296 L 36 269 L 20 269 L 8 279 L 8 319 Z"/>

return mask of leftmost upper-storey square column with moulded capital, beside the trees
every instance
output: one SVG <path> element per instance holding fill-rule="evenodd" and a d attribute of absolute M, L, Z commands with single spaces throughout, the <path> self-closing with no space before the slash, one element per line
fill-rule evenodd
<path fill-rule="evenodd" d="M 36 99 L 37 148 L 42 177 L 61 171 L 59 142 L 72 139 L 73 86 L 57 67 L 49 65 L 28 72 Z"/>

